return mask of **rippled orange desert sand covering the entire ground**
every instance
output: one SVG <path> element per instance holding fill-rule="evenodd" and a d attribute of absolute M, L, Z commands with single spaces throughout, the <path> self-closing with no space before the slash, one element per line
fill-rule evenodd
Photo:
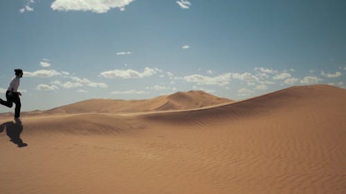
<path fill-rule="evenodd" d="M 2 115 L 0 193 L 346 193 L 345 89 L 186 96 Z"/>

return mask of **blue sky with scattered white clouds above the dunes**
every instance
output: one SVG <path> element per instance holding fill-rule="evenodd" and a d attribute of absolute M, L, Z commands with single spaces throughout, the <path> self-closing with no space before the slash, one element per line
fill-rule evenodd
<path fill-rule="evenodd" d="M 346 88 L 345 10 L 343 0 L 3 0 L 0 97 L 15 68 L 24 111 L 189 90 L 240 100 Z"/>

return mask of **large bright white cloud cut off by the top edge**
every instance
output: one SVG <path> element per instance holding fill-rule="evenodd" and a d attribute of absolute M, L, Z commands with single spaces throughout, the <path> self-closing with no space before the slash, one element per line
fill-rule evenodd
<path fill-rule="evenodd" d="M 125 6 L 134 0 L 84 0 L 84 1 L 71 1 L 71 0 L 55 0 L 51 8 L 58 11 L 91 11 L 95 13 L 105 13 L 111 8 L 119 8 L 121 11 L 125 10 Z"/>

